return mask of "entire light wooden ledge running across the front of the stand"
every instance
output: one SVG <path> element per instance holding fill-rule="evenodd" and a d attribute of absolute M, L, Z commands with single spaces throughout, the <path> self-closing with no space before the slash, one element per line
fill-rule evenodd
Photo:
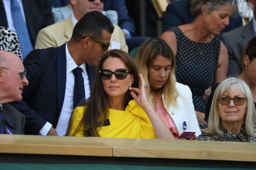
<path fill-rule="evenodd" d="M 0 153 L 256 162 L 256 144 L 0 134 Z"/>

